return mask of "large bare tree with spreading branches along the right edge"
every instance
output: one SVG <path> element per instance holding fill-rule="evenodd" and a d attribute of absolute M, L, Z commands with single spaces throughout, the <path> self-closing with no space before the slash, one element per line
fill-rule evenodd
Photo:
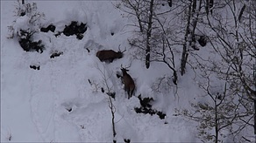
<path fill-rule="evenodd" d="M 213 18 L 207 17 L 210 29 L 214 31 L 216 37 L 211 45 L 222 59 L 221 62 L 215 63 L 222 68 L 213 71 L 220 77 L 228 75 L 230 90 L 241 98 L 238 103 L 244 105 L 246 112 L 249 113 L 248 117 L 240 118 L 240 121 L 247 126 L 254 126 L 254 134 L 256 134 L 256 113 L 252 113 L 256 106 L 255 77 L 253 77 L 253 66 L 256 63 L 256 3 L 232 0 L 225 4 L 229 12 L 215 15 Z M 230 16 L 229 19 L 224 19 L 227 15 Z M 210 22 L 213 19 L 215 23 Z M 254 123 L 252 123 L 253 116 Z"/>

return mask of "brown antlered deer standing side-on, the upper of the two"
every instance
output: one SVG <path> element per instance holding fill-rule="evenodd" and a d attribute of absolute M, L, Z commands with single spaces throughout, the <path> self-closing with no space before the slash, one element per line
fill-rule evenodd
<path fill-rule="evenodd" d="M 119 45 L 120 47 L 120 45 Z M 116 58 L 123 58 L 124 56 L 124 51 L 121 51 L 120 48 L 118 47 L 118 51 L 113 51 L 113 50 L 103 50 L 103 51 L 97 51 L 96 52 L 96 57 L 100 59 L 100 61 L 110 61 L 110 63 L 113 62 L 114 59 Z"/>

